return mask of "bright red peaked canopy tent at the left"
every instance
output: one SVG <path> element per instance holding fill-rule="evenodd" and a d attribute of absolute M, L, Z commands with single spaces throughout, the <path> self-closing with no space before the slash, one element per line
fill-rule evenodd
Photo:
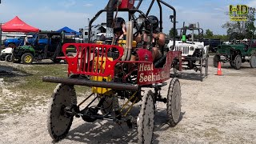
<path fill-rule="evenodd" d="M 16 16 L 9 22 L 6 22 L 4 25 L 2 25 L 2 31 L 28 33 L 39 32 L 39 29 L 26 24 L 26 22 L 23 22 L 20 18 L 18 18 L 18 16 Z"/>

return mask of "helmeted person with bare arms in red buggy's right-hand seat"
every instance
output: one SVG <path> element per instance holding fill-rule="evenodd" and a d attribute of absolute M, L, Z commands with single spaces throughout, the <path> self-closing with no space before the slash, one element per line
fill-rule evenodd
<path fill-rule="evenodd" d="M 146 30 L 150 31 L 151 30 L 150 25 L 152 26 L 152 30 L 153 30 L 152 43 L 154 45 L 152 47 L 152 57 L 153 57 L 153 61 L 155 61 L 155 60 L 158 60 L 159 58 L 162 57 L 162 53 L 159 50 L 159 47 L 165 45 L 166 35 L 163 34 L 162 32 L 160 32 L 160 29 L 158 27 L 159 21 L 158 21 L 158 18 L 156 16 L 150 15 L 148 17 L 148 19 L 149 19 L 150 23 L 145 21 L 145 27 L 146 27 Z M 148 43 L 150 43 L 149 38 L 148 38 L 148 34 L 146 34 L 146 33 L 144 33 L 143 35 L 138 34 L 138 36 L 135 38 L 135 41 L 139 43 L 139 42 L 142 42 L 142 39 L 146 43 L 146 45 Z M 136 60 L 136 58 L 134 56 L 132 56 L 131 60 L 134 61 L 134 60 Z"/>

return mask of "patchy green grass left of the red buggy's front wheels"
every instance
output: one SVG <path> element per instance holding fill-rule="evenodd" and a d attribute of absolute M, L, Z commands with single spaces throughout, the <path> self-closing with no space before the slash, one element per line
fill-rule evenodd
<path fill-rule="evenodd" d="M 22 114 L 23 108 L 26 106 L 46 105 L 58 84 L 42 82 L 42 77 L 67 78 L 67 66 L 63 64 L 34 64 L 31 66 L 21 64 L 14 70 L 19 74 L 24 74 L 4 77 L 6 89 L 10 90 L 14 96 L 2 97 L 0 114 Z M 90 90 L 86 86 L 75 86 L 75 89 L 78 96 Z"/>

